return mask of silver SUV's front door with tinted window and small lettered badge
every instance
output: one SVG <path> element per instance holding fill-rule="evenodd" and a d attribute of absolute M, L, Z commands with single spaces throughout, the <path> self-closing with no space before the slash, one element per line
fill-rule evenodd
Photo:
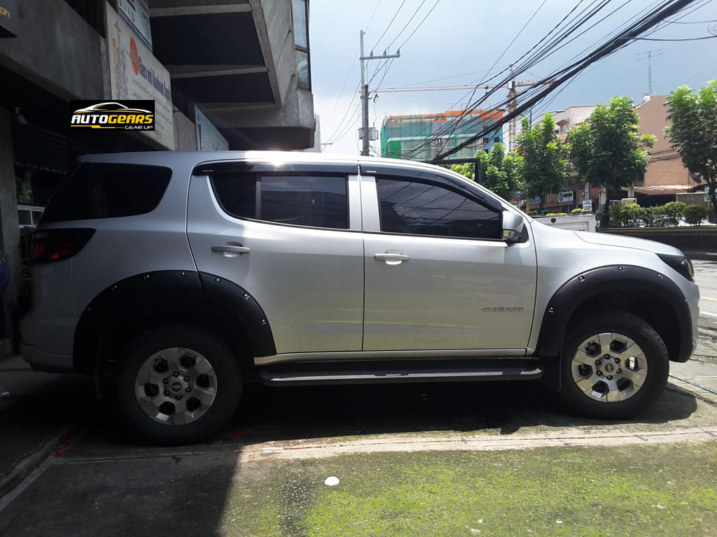
<path fill-rule="evenodd" d="M 364 350 L 524 354 L 536 253 L 531 241 L 501 240 L 498 200 L 389 166 L 366 169 L 361 190 Z"/>

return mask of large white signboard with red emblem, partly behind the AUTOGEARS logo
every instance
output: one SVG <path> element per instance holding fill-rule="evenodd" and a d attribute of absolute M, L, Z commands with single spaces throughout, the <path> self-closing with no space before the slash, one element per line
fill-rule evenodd
<path fill-rule="evenodd" d="M 1 0 L 0 0 L 1 1 Z M 153 100 L 155 130 L 143 135 L 174 150 L 174 114 L 169 72 L 107 4 L 110 87 L 115 100 Z"/>

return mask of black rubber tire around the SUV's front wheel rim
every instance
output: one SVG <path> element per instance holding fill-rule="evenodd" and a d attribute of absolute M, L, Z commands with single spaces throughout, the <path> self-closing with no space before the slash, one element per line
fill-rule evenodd
<path fill-rule="evenodd" d="M 587 340 L 597 334 L 622 334 L 622 336 L 632 339 L 642 350 L 640 358 L 630 358 L 631 351 L 625 349 L 620 350 L 620 342 L 614 340 L 609 349 L 606 350 L 598 344 L 600 351 L 593 355 L 594 349 L 590 344 L 585 347 L 589 352 L 585 354 L 577 354 Z M 606 338 L 607 339 L 607 338 Z M 598 340 L 599 341 L 599 340 Z M 616 351 L 613 351 L 613 347 Z M 625 353 L 624 355 L 622 353 Z M 609 358 L 605 359 L 604 355 L 609 354 Z M 574 357 L 576 361 L 574 362 Z M 579 359 L 589 357 L 594 360 L 593 365 L 585 366 L 579 362 Z M 616 359 L 619 361 L 615 363 Z M 637 382 L 642 384 L 635 389 L 632 379 L 625 379 L 624 367 L 625 359 L 630 360 L 630 364 L 640 364 L 642 371 L 637 371 L 637 375 L 632 369 L 627 369 L 632 378 L 639 379 Z M 632 362 L 635 360 L 635 362 Z M 599 365 L 597 362 L 601 362 Z M 591 370 L 590 367 L 593 369 Z M 637 366 L 636 366 L 637 367 Z M 609 371 L 607 369 L 609 369 Z M 571 326 L 569 333 L 566 334 L 563 346 L 561 360 L 561 390 L 562 400 L 568 407 L 579 415 L 587 417 L 597 417 L 604 420 L 622 420 L 633 417 L 640 412 L 647 410 L 652 406 L 657 398 L 662 395 L 665 385 L 668 381 L 670 373 L 670 362 L 668 351 L 665 348 L 663 340 L 655 329 L 647 324 L 640 317 L 628 313 L 627 311 L 604 311 L 602 314 L 588 316 L 577 321 Z M 620 373 L 618 375 L 617 373 Z M 600 375 L 600 377 L 597 377 Z M 592 384 L 593 379 L 598 379 L 594 389 L 584 392 L 578 385 L 575 376 L 581 381 L 582 387 Z M 613 380 L 618 379 L 619 380 Z M 607 379 L 610 381 L 607 381 Z M 625 379 L 625 380 L 624 380 Z M 608 386 L 608 382 L 613 386 L 617 384 L 622 388 L 612 390 Z M 613 400 L 607 401 L 607 392 L 612 391 Z M 627 397 L 625 393 L 627 392 Z M 599 397 L 597 399 L 596 397 Z M 624 400 L 614 400 L 615 397 L 626 397 Z"/>

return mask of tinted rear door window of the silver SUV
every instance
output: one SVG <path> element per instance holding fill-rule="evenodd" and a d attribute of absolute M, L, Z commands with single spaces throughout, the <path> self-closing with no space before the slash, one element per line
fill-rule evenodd
<path fill-rule="evenodd" d="M 342 175 L 222 174 L 212 177 L 222 208 L 236 218 L 313 228 L 348 229 Z"/>

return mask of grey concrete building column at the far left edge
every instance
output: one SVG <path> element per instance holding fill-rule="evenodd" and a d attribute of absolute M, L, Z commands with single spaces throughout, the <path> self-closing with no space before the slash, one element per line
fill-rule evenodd
<path fill-rule="evenodd" d="M 16 323 L 14 311 L 22 283 L 22 263 L 10 118 L 9 110 L 0 108 L 0 258 L 4 258 L 10 266 L 10 281 L 2 295 L 6 324 L 3 332 L 11 335 Z M 11 340 L 0 339 L 0 357 L 9 354 L 13 344 Z"/>

